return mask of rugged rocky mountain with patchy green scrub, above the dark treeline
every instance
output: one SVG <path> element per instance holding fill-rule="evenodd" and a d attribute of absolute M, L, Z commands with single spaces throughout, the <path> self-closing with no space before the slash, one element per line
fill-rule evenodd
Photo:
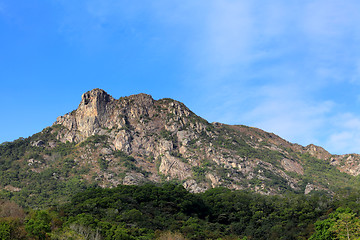
<path fill-rule="evenodd" d="M 290 143 L 261 129 L 209 123 L 172 99 L 114 99 L 101 89 L 42 132 L 0 145 L 1 195 L 28 205 L 88 186 L 173 181 L 273 195 L 359 189 L 360 155 Z"/>

